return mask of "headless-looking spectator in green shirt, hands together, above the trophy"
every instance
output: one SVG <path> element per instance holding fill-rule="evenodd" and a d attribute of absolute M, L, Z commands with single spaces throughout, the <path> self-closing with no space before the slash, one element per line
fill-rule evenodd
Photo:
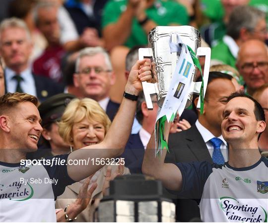
<path fill-rule="evenodd" d="M 146 45 L 147 34 L 155 26 L 187 25 L 186 8 L 175 1 L 110 0 L 102 18 L 106 48 Z"/>

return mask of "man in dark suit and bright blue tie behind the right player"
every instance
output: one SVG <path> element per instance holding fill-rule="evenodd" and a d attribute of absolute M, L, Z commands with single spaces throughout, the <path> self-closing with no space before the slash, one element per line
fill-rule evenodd
<path fill-rule="evenodd" d="M 198 120 L 191 128 L 170 135 L 168 141 L 170 153 L 167 154 L 166 163 L 213 161 L 223 164 L 228 161 L 227 143 L 221 135 L 221 121 L 226 100 L 232 92 L 235 92 L 231 79 L 232 76 L 228 74 L 209 73 L 203 114 L 196 109 L 198 96 L 195 95 L 193 107 L 198 113 Z M 217 142 L 220 145 L 214 145 Z M 176 211 L 178 220 L 182 222 L 200 217 L 199 207 L 193 200 L 177 200 Z"/>

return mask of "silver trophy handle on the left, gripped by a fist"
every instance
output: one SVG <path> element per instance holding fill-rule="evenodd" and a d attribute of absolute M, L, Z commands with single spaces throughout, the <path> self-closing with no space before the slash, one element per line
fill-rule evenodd
<path fill-rule="evenodd" d="M 152 49 L 151 48 L 139 48 L 138 49 L 138 59 L 141 60 L 143 58 L 151 58 L 153 56 Z M 142 81 L 142 89 L 143 94 L 145 97 L 145 102 L 147 105 L 148 110 L 153 109 L 151 95 L 158 93 L 157 83 L 148 83 L 146 81 Z"/>

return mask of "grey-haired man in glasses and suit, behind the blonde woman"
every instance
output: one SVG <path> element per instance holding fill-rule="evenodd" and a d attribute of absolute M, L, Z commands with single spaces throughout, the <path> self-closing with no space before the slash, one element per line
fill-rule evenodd
<path fill-rule="evenodd" d="M 73 75 L 75 87 L 84 98 L 97 101 L 111 120 L 119 105 L 111 101 L 109 91 L 115 83 L 115 73 L 108 53 L 101 47 L 88 47 L 79 52 Z"/>

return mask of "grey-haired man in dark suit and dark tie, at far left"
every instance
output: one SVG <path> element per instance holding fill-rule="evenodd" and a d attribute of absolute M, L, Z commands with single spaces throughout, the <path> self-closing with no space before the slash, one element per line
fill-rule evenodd
<path fill-rule="evenodd" d="M 6 92 L 23 92 L 37 96 L 39 101 L 64 91 L 64 86 L 50 79 L 34 75 L 29 57 L 32 41 L 26 24 L 17 18 L 5 19 L 0 24 L 0 48 L 6 68 Z"/>

